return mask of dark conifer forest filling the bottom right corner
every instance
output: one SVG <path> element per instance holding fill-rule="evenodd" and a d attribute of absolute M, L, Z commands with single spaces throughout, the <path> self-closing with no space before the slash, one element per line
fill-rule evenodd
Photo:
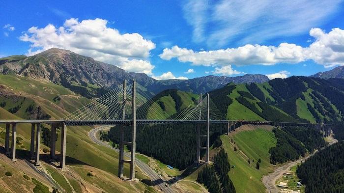
<path fill-rule="evenodd" d="M 296 172 L 306 193 L 344 193 L 344 141 L 315 153 Z"/>

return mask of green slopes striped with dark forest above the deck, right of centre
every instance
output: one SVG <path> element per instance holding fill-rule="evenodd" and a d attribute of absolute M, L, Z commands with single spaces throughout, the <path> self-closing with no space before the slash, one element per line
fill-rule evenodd
<path fill-rule="evenodd" d="M 175 113 L 179 110 L 172 96 L 182 99 L 183 96 L 171 93 L 181 91 L 166 90 L 157 94 L 154 100 L 163 101 L 166 109 L 173 107 L 168 111 Z M 267 83 L 229 83 L 210 91 L 209 95 L 222 116 L 231 120 L 330 123 L 343 119 L 344 79 L 293 76 Z M 190 103 L 190 98 L 185 103 Z M 197 98 L 196 95 L 193 98 Z"/>

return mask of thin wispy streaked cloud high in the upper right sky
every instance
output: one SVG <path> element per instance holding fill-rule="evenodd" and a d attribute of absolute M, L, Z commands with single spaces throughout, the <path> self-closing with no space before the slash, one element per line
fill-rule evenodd
<path fill-rule="evenodd" d="M 218 47 L 304 33 L 339 11 L 342 1 L 188 0 L 183 11 L 193 27 L 193 40 Z"/>

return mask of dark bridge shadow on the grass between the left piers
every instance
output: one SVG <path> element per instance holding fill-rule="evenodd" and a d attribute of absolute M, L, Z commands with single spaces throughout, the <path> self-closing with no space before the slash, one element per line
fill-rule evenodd
<path fill-rule="evenodd" d="M 6 154 L 6 149 L 3 146 L 0 146 L 0 153 L 1 154 Z M 39 154 L 39 160 L 41 162 L 44 162 L 46 164 L 52 165 L 54 167 L 59 167 L 59 158 L 60 158 L 60 154 L 56 154 L 56 159 L 52 160 L 50 153 L 49 154 Z M 34 164 L 34 161 L 30 159 L 30 151 L 29 150 L 25 150 L 25 149 L 16 149 L 16 159 L 18 160 L 26 160 L 31 164 Z M 10 155 L 8 156 L 8 158 L 10 159 Z M 82 162 L 80 160 L 77 160 L 75 158 L 66 156 L 66 165 L 88 165 L 85 162 Z M 91 165 L 88 165 L 91 166 Z"/>

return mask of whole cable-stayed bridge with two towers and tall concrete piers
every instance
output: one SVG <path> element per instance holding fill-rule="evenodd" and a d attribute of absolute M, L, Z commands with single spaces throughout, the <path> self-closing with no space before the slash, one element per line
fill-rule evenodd
<path fill-rule="evenodd" d="M 180 113 L 169 115 L 161 107 L 154 97 L 150 97 L 141 85 L 133 81 L 127 85 L 116 87 L 105 95 L 93 99 L 90 103 L 72 113 L 61 117 L 59 120 L 0 120 L 0 124 L 5 124 L 5 149 L 12 161 L 16 161 L 16 125 L 31 124 L 31 144 L 30 157 L 34 159 L 35 165 L 40 165 L 39 145 L 40 145 L 40 124 L 51 125 L 51 151 L 50 156 L 56 159 L 56 129 L 61 129 L 60 167 L 65 167 L 66 152 L 66 126 L 100 126 L 119 125 L 119 163 L 118 176 L 123 177 L 124 163 L 130 164 L 129 179 L 135 179 L 135 152 L 136 152 L 136 126 L 152 124 L 194 124 L 197 131 L 197 157 L 196 164 L 209 164 L 209 137 L 210 124 L 225 124 L 227 134 L 244 124 L 264 124 L 276 127 L 283 126 L 308 126 L 321 132 L 324 136 L 329 136 L 331 125 L 312 123 L 291 123 L 274 121 L 252 121 L 252 120 L 226 120 L 218 107 L 211 100 L 209 94 L 200 94 L 192 101 L 188 107 Z M 201 126 L 206 125 L 205 133 L 201 134 Z M 10 126 L 12 126 L 11 147 Z M 124 141 L 124 126 L 131 128 L 131 141 Z M 201 138 L 205 138 L 206 145 L 201 146 Z M 130 146 L 130 160 L 124 159 L 124 145 Z M 201 149 L 206 151 L 205 160 L 201 160 Z"/>

